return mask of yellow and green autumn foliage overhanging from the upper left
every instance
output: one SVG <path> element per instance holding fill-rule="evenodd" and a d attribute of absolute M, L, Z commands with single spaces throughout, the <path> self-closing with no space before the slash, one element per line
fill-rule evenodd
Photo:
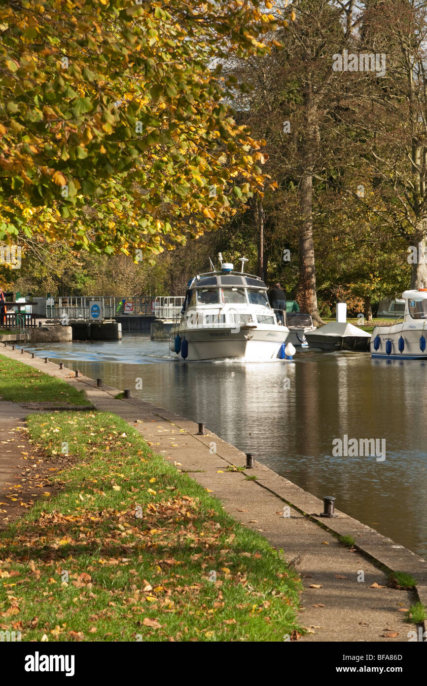
<path fill-rule="evenodd" d="M 2 3 L 0 239 L 152 259 L 236 213 L 265 179 L 219 60 L 268 50 L 265 5 Z"/>

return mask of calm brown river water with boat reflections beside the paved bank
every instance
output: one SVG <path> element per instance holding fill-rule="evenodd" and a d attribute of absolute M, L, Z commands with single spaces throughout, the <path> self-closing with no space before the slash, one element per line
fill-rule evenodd
<path fill-rule="evenodd" d="M 141 335 L 25 348 L 206 422 L 278 474 L 319 498 L 334 495 L 343 512 L 427 556 L 425 362 L 309 349 L 291 362 L 182 362 L 167 342 Z M 349 442 L 385 441 L 385 459 L 332 455 L 345 434 Z"/>

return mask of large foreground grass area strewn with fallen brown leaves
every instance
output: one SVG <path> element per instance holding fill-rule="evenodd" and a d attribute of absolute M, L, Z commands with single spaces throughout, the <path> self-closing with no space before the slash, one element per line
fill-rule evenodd
<path fill-rule="evenodd" d="M 114 414 L 33 414 L 75 463 L 0 534 L 0 628 L 23 641 L 284 641 L 300 579 Z"/>

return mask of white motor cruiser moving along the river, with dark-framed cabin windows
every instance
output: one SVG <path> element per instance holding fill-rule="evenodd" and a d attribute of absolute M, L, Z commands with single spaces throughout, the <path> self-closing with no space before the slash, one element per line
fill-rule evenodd
<path fill-rule="evenodd" d="M 197 274 L 188 282 L 170 350 L 186 360 L 284 359 L 289 329 L 278 324 L 264 281 L 243 272 L 246 258 L 240 258 L 241 272 L 236 272 L 219 257 L 219 271 Z"/>

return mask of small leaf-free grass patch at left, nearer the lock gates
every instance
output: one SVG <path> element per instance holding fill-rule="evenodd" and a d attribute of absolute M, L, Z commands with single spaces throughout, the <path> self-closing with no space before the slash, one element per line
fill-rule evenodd
<path fill-rule="evenodd" d="M 0 397 L 14 403 L 89 404 L 84 391 L 4 355 L 0 355 Z"/>

